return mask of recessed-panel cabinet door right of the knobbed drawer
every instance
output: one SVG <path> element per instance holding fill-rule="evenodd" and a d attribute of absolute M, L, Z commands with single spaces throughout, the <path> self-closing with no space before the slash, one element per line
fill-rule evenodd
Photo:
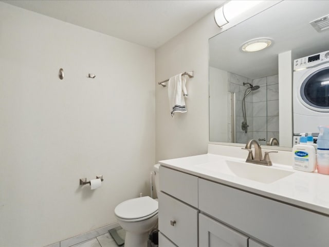
<path fill-rule="evenodd" d="M 248 237 L 199 214 L 199 246 L 201 247 L 247 247 Z"/>

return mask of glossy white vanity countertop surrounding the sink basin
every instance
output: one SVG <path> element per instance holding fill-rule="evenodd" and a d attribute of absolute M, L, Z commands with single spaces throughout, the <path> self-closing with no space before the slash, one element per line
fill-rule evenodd
<path fill-rule="evenodd" d="M 245 152 L 243 152 L 243 154 L 247 156 Z M 283 154 L 282 156 L 284 155 L 287 154 Z M 234 156 L 241 156 L 241 154 Z M 186 172 L 199 178 L 225 184 L 329 216 L 329 175 L 323 175 L 317 172 L 298 171 L 288 165 L 273 163 L 270 167 L 262 167 L 265 169 L 291 171 L 293 174 L 271 183 L 262 183 L 240 178 L 236 175 L 232 175 L 232 173 L 215 169 L 216 166 L 223 165 L 223 162 L 227 160 L 245 162 L 245 158 L 241 157 L 207 153 L 160 161 L 159 163 L 162 166 Z M 287 158 L 285 158 L 285 160 L 287 160 Z"/>

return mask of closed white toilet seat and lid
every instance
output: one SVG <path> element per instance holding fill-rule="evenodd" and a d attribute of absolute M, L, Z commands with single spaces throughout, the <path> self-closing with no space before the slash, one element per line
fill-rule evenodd
<path fill-rule="evenodd" d="M 151 197 L 134 198 L 120 203 L 114 213 L 122 221 L 142 221 L 158 214 L 158 202 Z"/>

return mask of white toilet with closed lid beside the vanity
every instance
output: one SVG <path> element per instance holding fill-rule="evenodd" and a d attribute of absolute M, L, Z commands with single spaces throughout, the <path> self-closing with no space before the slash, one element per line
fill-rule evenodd
<path fill-rule="evenodd" d="M 159 190 L 159 164 L 154 165 L 155 187 Z M 125 247 L 147 247 L 148 234 L 158 222 L 158 201 L 139 197 L 121 202 L 114 209 L 118 223 L 126 231 Z"/>

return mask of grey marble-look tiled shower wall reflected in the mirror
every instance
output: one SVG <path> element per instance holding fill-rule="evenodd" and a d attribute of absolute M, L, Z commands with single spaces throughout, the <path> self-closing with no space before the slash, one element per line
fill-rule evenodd
<path fill-rule="evenodd" d="M 251 92 L 246 97 L 246 116 L 249 125 L 248 132 L 241 128 L 243 121 L 242 99 L 247 89 L 243 82 L 249 82 L 253 86 L 259 85 L 260 89 Z M 250 139 L 260 140 L 261 145 L 271 137 L 279 140 L 279 80 L 278 75 L 260 79 L 249 79 L 243 76 L 228 73 L 230 92 L 235 93 L 235 142 L 247 143 Z M 229 102 L 229 107 L 231 103 Z M 230 111 L 229 111 L 230 112 Z M 231 141 L 231 115 L 228 124 L 228 139 Z"/>

